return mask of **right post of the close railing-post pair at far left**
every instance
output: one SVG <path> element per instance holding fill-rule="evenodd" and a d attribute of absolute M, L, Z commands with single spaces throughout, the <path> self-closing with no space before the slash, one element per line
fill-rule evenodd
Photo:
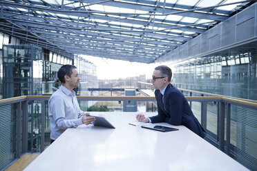
<path fill-rule="evenodd" d="M 28 101 L 22 102 L 22 153 L 28 151 Z"/>

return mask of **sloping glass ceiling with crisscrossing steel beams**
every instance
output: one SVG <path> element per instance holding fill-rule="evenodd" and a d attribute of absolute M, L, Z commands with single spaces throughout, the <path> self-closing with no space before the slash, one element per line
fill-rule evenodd
<path fill-rule="evenodd" d="M 153 63 L 251 3 L 3 0 L 0 31 L 55 52 Z"/>

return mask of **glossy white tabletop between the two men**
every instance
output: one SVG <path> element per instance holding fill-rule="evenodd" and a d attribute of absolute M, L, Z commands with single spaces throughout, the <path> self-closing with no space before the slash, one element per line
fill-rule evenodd
<path fill-rule="evenodd" d="M 247 170 L 186 127 L 173 132 L 129 125 L 135 112 L 91 112 L 115 129 L 70 128 L 25 169 L 28 170 Z M 153 113 L 151 113 L 153 115 Z"/>

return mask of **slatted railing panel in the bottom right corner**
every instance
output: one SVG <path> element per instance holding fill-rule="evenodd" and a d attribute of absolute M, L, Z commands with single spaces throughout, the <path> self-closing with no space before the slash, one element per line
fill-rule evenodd
<path fill-rule="evenodd" d="M 257 163 L 257 110 L 231 105 L 231 144 L 234 158 L 251 170 Z"/>

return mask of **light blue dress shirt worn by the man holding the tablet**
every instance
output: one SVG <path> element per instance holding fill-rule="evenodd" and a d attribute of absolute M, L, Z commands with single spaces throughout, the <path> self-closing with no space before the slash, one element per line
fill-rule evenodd
<path fill-rule="evenodd" d="M 57 139 L 67 128 L 82 125 L 84 112 L 80 110 L 74 91 L 61 86 L 48 101 L 50 139 Z"/>

